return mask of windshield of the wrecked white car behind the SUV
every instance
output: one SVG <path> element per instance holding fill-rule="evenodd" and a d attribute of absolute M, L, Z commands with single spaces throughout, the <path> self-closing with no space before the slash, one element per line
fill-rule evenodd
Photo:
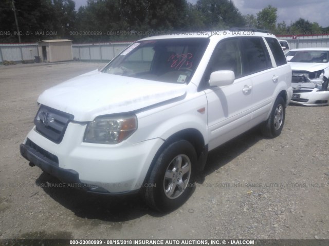
<path fill-rule="evenodd" d="M 328 51 L 322 50 L 300 50 L 289 51 L 286 54 L 290 63 L 327 63 Z"/>

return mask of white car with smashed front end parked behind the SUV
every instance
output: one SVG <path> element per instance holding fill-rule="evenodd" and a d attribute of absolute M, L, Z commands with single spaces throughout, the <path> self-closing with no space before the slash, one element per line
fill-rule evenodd
<path fill-rule="evenodd" d="M 293 70 L 291 103 L 324 106 L 329 103 L 329 48 L 292 49 L 286 53 Z"/>

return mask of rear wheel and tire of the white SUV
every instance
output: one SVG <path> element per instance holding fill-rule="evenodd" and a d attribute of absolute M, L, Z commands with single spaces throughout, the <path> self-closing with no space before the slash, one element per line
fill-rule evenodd
<path fill-rule="evenodd" d="M 285 114 L 285 101 L 279 96 L 273 105 L 269 118 L 261 125 L 263 135 L 271 138 L 279 136 L 284 125 Z"/>

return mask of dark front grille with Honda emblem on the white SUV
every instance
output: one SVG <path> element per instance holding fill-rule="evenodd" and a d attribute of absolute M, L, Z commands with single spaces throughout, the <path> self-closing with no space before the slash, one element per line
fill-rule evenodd
<path fill-rule="evenodd" d="M 36 131 L 49 140 L 59 144 L 65 134 L 68 123 L 74 115 L 42 105 L 34 118 Z"/>

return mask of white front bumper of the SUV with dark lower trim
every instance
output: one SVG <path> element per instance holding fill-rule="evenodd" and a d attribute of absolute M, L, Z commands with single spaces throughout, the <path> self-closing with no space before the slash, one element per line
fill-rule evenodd
<path fill-rule="evenodd" d="M 163 144 L 156 138 L 132 144 L 82 142 L 85 126 L 70 123 L 60 144 L 33 128 L 20 146 L 23 157 L 71 187 L 89 192 L 126 194 L 144 186 L 152 160 Z"/>

